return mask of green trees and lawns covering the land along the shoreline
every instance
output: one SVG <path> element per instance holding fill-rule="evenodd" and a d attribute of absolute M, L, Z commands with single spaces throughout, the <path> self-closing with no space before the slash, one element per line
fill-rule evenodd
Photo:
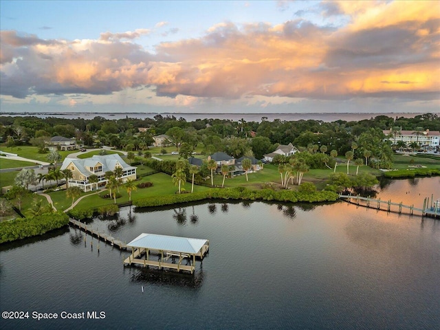
<path fill-rule="evenodd" d="M 0 214 L 3 215 L 0 243 L 61 228 L 69 223 L 69 217 L 83 220 L 97 214 L 113 215 L 122 206 L 150 208 L 214 200 L 322 203 L 337 201 L 342 191 L 369 190 L 381 176 L 401 179 L 440 175 L 438 155 L 396 153 L 397 149 L 392 150 L 391 142 L 386 142 L 382 133 L 382 129 L 396 124 L 414 129 L 412 126 L 423 123 L 425 129 L 439 130 L 440 120 L 431 114 L 398 119 L 379 115 L 360 122 L 338 120 L 331 123 L 316 120 L 268 122 L 264 118 L 259 123 L 206 119 L 186 122 L 182 118 L 177 120 L 162 115 L 145 120 L 97 117 L 94 120 L 46 118 L 43 121 L 32 118 L 0 117 L 0 135 L 7 137 L 6 142 L 0 144 L 1 151 L 52 163 L 48 157 L 54 152 L 46 150 L 45 136 L 59 135 L 58 131 L 70 131 L 69 135 L 74 136 L 79 131 L 77 140 L 80 138 L 91 150 L 78 157 L 120 153 L 131 166 L 137 166 L 135 187 L 122 184 L 117 193 L 113 189 L 113 196 L 111 190 L 110 194 L 107 190 L 74 192 L 59 187 L 58 180 L 63 179 L 63 175 L 58 173 L 58 177 L 51 177 L 50 173 L 56 174 L 63 159 L 77 152 L 74 150 L 59 151 L 49 170 L 41 170 L 39 177 L 19 188 L 15 185 L 19 174 L 17 168 L 30 166 L 32 162 L 4 159 L 8 161 L 1 162 L 0 186 L 14 186 L 0 196 L 0 202 L 4 203 L 0 208 L 2 212 L 14 208 L 23 218 L 8 220 L 7 212 Z M 32 131 L 31 127 L 36 127 L 35 120 L 41 122 L 40 129 Z M 139 127 L 148 127 L 148 130 L 141 131 Z M 172 135 L 168 146 L 146 147 L 153 143 L 153 135 L 165 133 Z M 14 134 L 21 135 L 13 138 Z M 26 140 L 26 135 L 34 137 Z M 216 151 L 230 153 L 236 159 L 240 155 L 261 159 L 263 154 L 274 150 L 275 142 L 293 142 L 298 146 L 298 153 L 293 157 L 276 157 L 272 164 L 261 164 L 263 169 L 254 173 L 246 170 L 243 175 L 231 176 L 222 169 L 222 173 L 212 175 L 208 170 L 208 155 Z M 102 144 L 111 146 L 111 150 L 99 148 Z M 196 175 L 191 174 L 189 164 L 183 164 L 188 162 L 182 159 L 190 156 L 199 158 L 204 164 Z M 8 168 L 13 170 L 6 172 Z M 176 179 L 178 171 L 183 176 Z M 36 179 L 45 184 L 45 196 L 28 191 Z M 52 188 L 47 189 L 49 186 Z"/>

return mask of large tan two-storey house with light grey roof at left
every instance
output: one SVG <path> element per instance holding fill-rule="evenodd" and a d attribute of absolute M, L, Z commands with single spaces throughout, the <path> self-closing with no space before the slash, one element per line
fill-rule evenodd
<path fill-rule="evenodd" d="M 72 170 L 69 186 L 78 186 L 86 192 L 94 190 L 98 186 L 106 185 L 108 180 L 104 177 L 105 173 L 118 167 L 122 168 L 122 177 L 120 177 L 122 182 L 126 182 L 128 179 L 136 179 L 136 168 L 126 164 L 118 154 L 94 155 L 85 159 L 65 158 L 61 170 L 65 168 Z M 97 184 L 89 182 L 89 177 L 93 174 L 98 177 Z"/>

